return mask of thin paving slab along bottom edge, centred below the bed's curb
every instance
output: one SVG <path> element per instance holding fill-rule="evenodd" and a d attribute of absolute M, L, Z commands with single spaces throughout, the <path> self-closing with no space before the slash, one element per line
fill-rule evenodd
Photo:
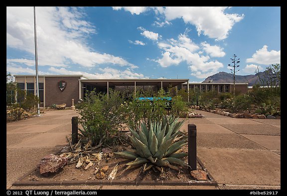
<path fill-rule="evenodd" d="M 103 186 L 102 190 L 216 190 L 215 186 Z"/>

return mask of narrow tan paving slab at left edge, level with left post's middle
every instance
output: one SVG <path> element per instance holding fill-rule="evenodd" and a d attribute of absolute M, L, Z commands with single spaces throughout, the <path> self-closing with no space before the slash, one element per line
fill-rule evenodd
<path fill-rule="evenodd" d="M 8 131 L 9 134 L 19 134 L 19 133 L 45 133 L 51 129 L 55 129 L 57 127 L 60 127 L 61 125 L 26 125 L 22 126 L 20 128 Z"/>

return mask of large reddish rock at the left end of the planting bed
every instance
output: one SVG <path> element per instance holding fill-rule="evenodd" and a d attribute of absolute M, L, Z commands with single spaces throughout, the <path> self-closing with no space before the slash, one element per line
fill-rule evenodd
<path fill-rule="evenodd" d="M 68 159 L 66 157 L 50 154 L 43 157 L 37 167 L 40 169 L 40 174 L 48 174 L 57 172 L 67 164 Z"/>

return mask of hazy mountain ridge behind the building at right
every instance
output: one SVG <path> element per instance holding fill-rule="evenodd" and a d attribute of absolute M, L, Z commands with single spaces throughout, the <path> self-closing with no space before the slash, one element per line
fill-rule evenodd
<path fill-rule="evenodd" d="M 253 86 L 259 82 L 259 72 L 255 75 L 235 75 L 235 83 L 248 83 L 248 86 Z M 212 76 L 208 76 L 202 83 L 233 83 L 233 74 L 226 72 L 219 72 Z"/>

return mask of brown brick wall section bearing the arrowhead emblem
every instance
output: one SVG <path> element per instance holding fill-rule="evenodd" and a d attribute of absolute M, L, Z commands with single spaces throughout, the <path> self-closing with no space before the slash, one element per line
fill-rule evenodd
<path fill-rule="evenodd" d="M 79 101 L 79 79 L 80 77 L 45 77 L 45 107 L 55 104 L 67 104 L 72 106 Z M 65 81 L 66 88 L 61 91 L 58 87 L 59 81 Z"/>

